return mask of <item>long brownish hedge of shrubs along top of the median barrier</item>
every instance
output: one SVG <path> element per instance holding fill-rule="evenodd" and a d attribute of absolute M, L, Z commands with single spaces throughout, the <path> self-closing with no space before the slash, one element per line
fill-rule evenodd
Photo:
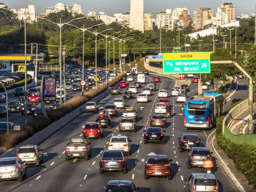
<path fill-rule="evenodd" d="M 49 111 L 49 120 L 44 119 L 43 116 L 39 116 L 34 121 L 27 122 L 27 126 L 24 125 L 21 128 L 21 131 L 12 131 L 9 135 L 0 135 L 0 146 L 5 147 L 6 151 L 15 147 L 16 145 L 25 141 L 32 135 L 46 128 L 48 125 L 52 124 L 58 119 L 61 119 L 68 113 L 74 111 L 76 108 L 79 108 L 81 105 L 98 96 L 100 93 L 103 93 L 105 90 L 108 90 L 108 88 L 112 87 L 114 84 L 118 83 L 123 78 L 124 75 L 116 76 L 116 78 L 113 79 L 113 81 L 108 81 L 108 85 L 102 84 L 97 87 L 97 90 L 91 89 L 88 92 L 84 93 L 84 96 L 73 97 L 72 99 L 67 101 L 66 105 L 62 106 L 61 109 Z"/>

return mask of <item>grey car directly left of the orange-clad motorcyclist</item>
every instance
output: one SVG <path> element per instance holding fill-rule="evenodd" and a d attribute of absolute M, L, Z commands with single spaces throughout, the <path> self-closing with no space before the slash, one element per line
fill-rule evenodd
<path fill-rule="evenodd" d="M 203 167 L 204 160 L 207 159 L 207 155 L 212 159 L 212 152 L 206 147 L 192 147 L 186 154 L 186 165 L 188 169 L 191 167 Z"/>

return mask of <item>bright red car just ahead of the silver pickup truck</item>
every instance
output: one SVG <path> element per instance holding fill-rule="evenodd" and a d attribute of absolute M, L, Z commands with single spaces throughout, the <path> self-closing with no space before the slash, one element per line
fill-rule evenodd
<path fill-rule="evenodd" d="M 99 138 L 103 137 L 103 128 L 99 122 L 87 122 L 84 126 L 83 136 L 84 138 Z"/>

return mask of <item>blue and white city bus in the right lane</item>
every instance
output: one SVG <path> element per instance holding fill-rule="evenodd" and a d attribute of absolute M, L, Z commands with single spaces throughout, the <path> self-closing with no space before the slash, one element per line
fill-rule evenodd
<path fill-rule="evenodd" d="M 219 93 L 204 93 L 191 97 L 185 103 L 184 127 L 212 128 L 224 111 L 224 97 Z"/>

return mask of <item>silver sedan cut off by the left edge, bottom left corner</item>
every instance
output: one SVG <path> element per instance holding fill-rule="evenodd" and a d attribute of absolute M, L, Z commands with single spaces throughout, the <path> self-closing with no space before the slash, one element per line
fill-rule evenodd
<path fill-rule="evenodd" d="M 6 157 L 0 159 L 0 181 L 17 179 L 22 182 L 26 177 L 26 161 L 19 157 Z"/>

